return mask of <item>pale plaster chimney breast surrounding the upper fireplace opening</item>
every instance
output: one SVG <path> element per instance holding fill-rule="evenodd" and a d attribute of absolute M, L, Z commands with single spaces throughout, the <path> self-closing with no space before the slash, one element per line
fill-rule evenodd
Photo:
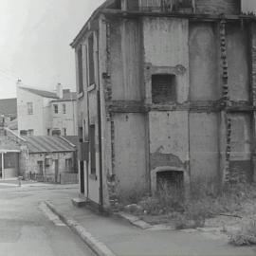
<path fill-rule="evenodd" d="M 146 101 L 151 101 L 151 75 L 176 76 L 177 102 L 189 97 L 189 24 L 186 19 L 145 17 L 142 20 Z M 181 72 L 180 72 L 181 70 Z"/>

